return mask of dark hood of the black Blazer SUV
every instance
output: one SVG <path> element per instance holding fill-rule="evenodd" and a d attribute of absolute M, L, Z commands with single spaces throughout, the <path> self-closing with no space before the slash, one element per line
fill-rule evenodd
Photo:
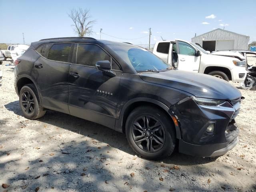
<path fill-rule="evenodd" d="M 170 70 L 140 73 L 142 80 L 188 92 L 196 97 L 233 100 L 240 91 L 225 80 L 195 72 Z"/>

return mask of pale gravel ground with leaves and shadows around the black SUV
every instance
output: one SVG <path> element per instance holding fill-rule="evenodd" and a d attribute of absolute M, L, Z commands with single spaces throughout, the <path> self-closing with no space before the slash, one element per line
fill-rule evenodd
<path fill-rule="evenodd" d="M 99 124 L 51 110 L 24 118 L 8 63 L 0 65 L 0 185 L 7 184 L 0 192 L 256 191 L 256 92 L 240 90 L 240 142 L 224 156 L 175 152 L 150 161 L 134 154 L 124 134 Z"/>

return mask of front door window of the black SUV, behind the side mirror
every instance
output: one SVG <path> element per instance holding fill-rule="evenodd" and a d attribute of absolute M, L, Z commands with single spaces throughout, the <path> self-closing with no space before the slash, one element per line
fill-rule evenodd
<path fill-rule="evenodd" d="M 91 44 L 78 44 L 76 64 L 95 66 L 97 61 L 108 60 L 110 56 L 100 47 Z"/>

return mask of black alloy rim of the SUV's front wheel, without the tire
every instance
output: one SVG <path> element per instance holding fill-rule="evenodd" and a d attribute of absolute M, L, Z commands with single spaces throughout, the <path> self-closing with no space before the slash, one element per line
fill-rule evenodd
<path fill-rule="evenodd" d="M 132 137 L 139 148 L 146 152 L 157 152 L 165 142 L 162 124 L 150 115 L 138 117 L 132 126 Z"/>

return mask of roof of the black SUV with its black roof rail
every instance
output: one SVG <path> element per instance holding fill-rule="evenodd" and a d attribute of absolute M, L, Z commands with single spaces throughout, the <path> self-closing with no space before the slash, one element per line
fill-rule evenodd
<path fill-rule="evenodd" d="M 130 43 L 125 43 L 125 42 L 114 42 L 114 41 L 108 41 L 108 40 L 97 40 L 91 37 L 62 37 L 62 38 L 50 38 L 50 39 L 42 39 L 37 42 L 32 42 L 31 45 L 34 48 L 37 48 L 38 46 L 42 44 L 47 44 L 47 43 L 72 43 L 72 42 L 77 42 L 77 43 L 95 43 L 95 44 L 105 44 L 105 45 L 119 45 L 119 46 L 134 46 L 138 47 L 135 45 L 132 45 Z"/>

